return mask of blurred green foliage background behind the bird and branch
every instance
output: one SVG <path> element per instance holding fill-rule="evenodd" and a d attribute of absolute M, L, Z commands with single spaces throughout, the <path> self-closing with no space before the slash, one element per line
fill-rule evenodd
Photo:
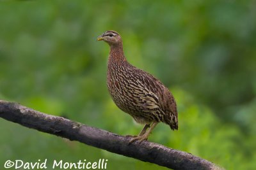
<path fill-rule="evenodd" d="M 159 124 L 149 141 L 226 169 L 256 167 L 256 3 L 249 1 L 24 1 L 0 5 L 0 99 L 117 134 L 143 125 L 108 94 L 109 46 L 177 99 L 179 131 Z M 166 169 L 0 119 L 6 160 L 108 159 L 108 169 Z"/>

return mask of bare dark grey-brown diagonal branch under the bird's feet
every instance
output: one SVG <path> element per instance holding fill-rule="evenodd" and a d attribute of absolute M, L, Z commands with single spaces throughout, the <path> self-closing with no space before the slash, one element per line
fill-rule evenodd
<path fill-rule="evenodd" d="M 0 101 L 0 117 L 38 131 L 171 169 L 221 169 L 212 162 L 196 157 L 191 153 L 148 141 L 141 143 L 135 141 L 128 144 L 130 138 L 63 117 L 47 115 L 18 103 Z"/>

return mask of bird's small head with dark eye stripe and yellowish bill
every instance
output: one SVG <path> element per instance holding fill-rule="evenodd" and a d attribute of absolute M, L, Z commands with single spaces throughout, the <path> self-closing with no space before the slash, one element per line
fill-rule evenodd
<path fill-rule="evenodd" d="M 105 41 L 110 46 L 122 43 L 121 36 L 116 31 L 106 31 L 97 38 L 97 41 Z"/>

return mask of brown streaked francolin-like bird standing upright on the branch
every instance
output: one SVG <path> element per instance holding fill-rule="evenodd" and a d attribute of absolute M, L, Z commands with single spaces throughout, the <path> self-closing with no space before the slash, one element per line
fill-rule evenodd
<path fill-rule="evenodd" d="M 159 122 L 178 130 L 177 104 L 172 93 L 152 74 L 130 64 L 123 50 L 123 41 L 116 31 L 106 31 L 97 41 L 110 46 L 107 85 L 110 96 L 120 110 L 145 126 L 129 143 L 145 141 Z"/>

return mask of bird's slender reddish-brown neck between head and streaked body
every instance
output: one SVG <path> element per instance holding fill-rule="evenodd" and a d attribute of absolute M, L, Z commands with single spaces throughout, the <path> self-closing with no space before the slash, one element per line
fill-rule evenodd
<path fill-rule="evenodd" d="M 124 56 L 123 44 L 118 43 L 110 46 L 109 62 L 124 62 L 126 61 Z"/>

